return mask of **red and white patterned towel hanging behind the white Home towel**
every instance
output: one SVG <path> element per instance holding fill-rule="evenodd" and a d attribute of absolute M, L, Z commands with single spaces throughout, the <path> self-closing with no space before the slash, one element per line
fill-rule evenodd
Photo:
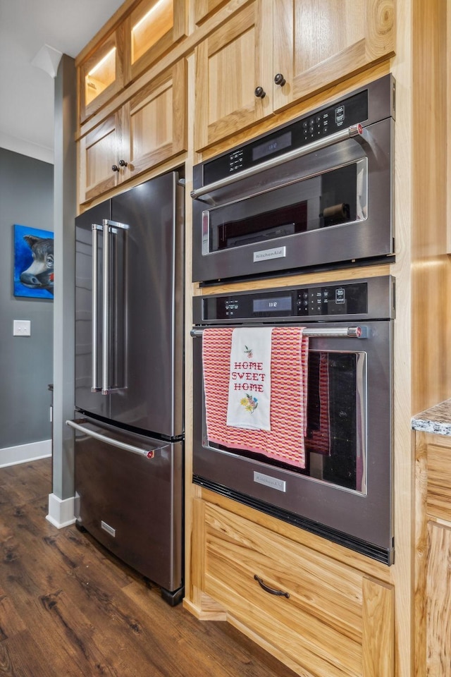
<path fill-rule="evenodd" d="M 233 328 L 204 329 L 202 361 L 209 441 L 305 468 L 309 346 L 303 329 L 273 327 L 272 330 L 270 430 L 227 425 Z"/>

